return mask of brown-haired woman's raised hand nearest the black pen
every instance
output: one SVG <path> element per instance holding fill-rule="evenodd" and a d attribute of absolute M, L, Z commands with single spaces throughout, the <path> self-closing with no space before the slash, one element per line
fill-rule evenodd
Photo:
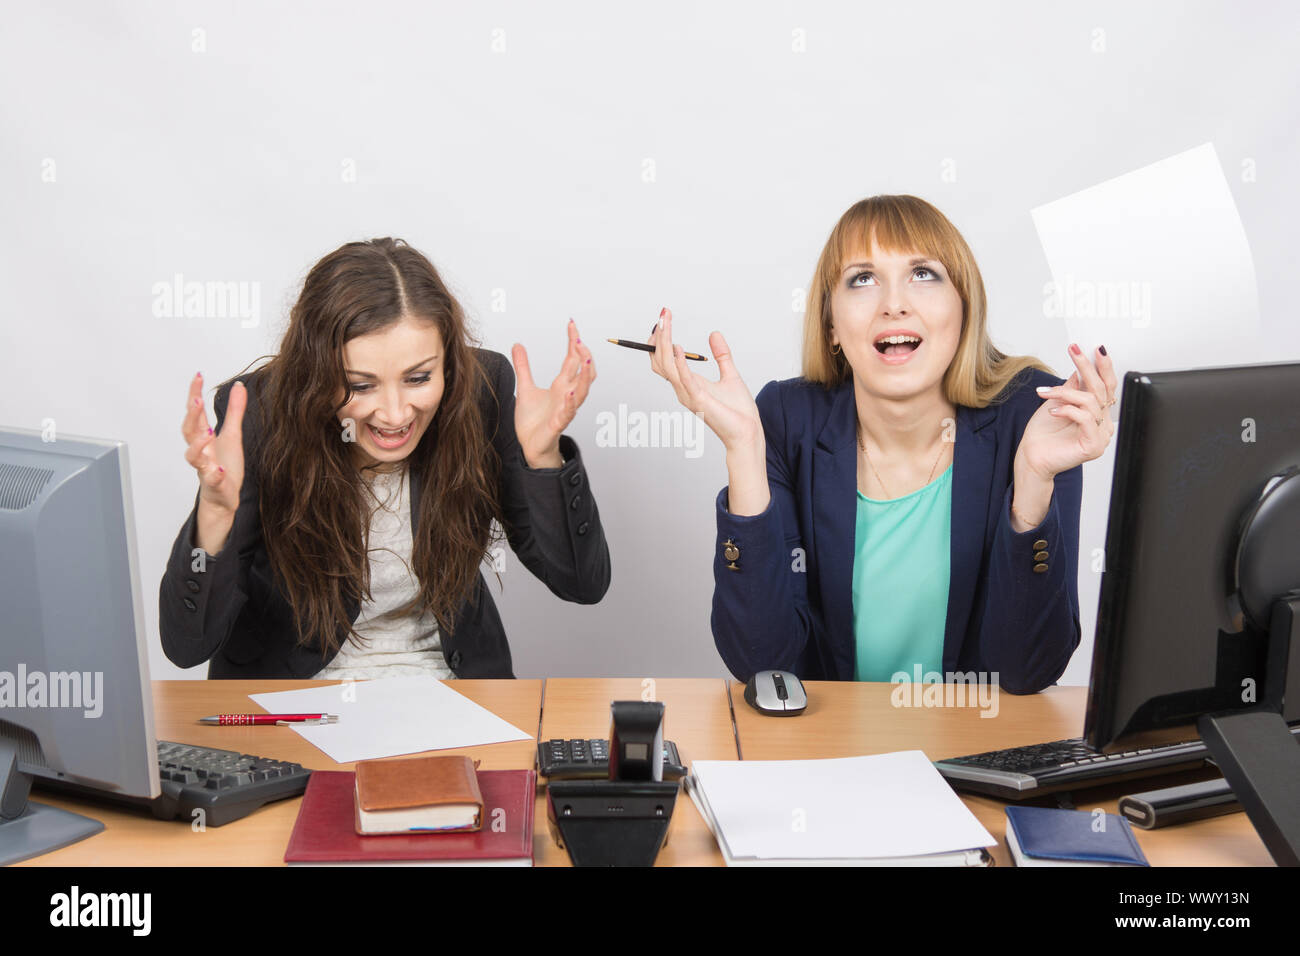
<path fill-rule="evenodd" d="M 568 352 L 560 373 L 550 388 L 533 384 L 533 373 L 528 367 L 528 352 L 515 343 L 511 358 L 515 363 L 515 434 L 524 451 L 524 462 L 529 468 L 559 468 L 564 464 L 560 455 L 560 432 L 573 420 L 586 393 L 595 381 L 595 364 L 592 350 L 577 337 L 577 325 L 569 319 Z"/>

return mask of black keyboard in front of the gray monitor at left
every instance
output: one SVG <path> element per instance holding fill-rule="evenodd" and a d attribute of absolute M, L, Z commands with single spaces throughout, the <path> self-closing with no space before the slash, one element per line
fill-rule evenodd
<path fill-rule="evenodd" d="M 153 799 L 110 793 L 46 777 L 34 778 L 32 784 L 39 790 L 148 809 L 159 819 L 200 819 L 203 826 L 225 826 L 273 800 L 298 796 L 307 790 L 312 775 L 302 763 L 238 750 L 172 740 L 159 740 L 157 748 L 162 793 Z"/>

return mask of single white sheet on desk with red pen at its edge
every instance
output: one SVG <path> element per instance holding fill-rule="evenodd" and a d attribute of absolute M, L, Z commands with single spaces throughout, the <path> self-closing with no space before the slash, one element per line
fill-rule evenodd
<path fill-rule="evenodd" d="M 532 734 L 429 676 L 356 680 L 248 697 L 272 714 L 338 714 L 338 723 L 291 724 L 338 763 L 532 740 Z"/>

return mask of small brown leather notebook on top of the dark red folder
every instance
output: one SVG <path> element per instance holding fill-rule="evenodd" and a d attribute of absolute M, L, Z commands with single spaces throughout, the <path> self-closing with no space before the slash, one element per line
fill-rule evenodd
<path fill-rule="evenodd" d="M 477 830 L 484 799 L 476 766 L 463 754 L 358 762 L 356 832 Z"/>

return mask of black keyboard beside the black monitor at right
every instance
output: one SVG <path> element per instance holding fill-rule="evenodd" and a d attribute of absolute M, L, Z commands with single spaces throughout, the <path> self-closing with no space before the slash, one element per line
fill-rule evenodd
<path fill-rule="evenodd" d="M 988 793 L 1002 800 L 1027 800 L 1061 790 L 1195 770 L 1205 766 L 1208 757 L 1209 750 L 1200 740 L 1101 753 L 1082 737 L 1074 737 L 937 760 L 935 766 L 953 790 Z"/>

